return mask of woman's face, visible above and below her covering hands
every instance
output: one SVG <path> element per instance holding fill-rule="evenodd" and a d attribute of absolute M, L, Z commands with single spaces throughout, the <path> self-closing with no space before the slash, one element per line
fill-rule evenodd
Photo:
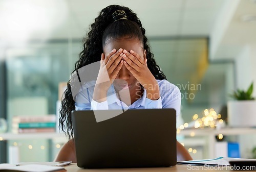
<path fill-rule="evenodd" d="M 117 51 L 120 48 L 128 52 L 133 50 L 134 52 L 138 53 L 141 58 L 146 58 L 146 51 L 143 49 L 142 43 L 137 38 L 121 38 L 110 40 L 108 44 L 103 47 L 103 53 L 108 55 L 109 52 L 111 52 L 114 48 L 116 48 Z M 120 69 L 113 84 L 118 90 L 129 89 L 130 93 L 135 93 L 136 90 L 141 90 L 138 80 L 124 65 Z"/>

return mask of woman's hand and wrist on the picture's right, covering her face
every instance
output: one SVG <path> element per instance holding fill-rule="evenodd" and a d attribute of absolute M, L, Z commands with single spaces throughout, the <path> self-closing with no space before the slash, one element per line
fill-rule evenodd
<path fill-rule="evenodd" d="M 140 57 L 133 50 L 130 52 L 123 50 L 122 58 L 124 60 L 124 66 L 146 89 L 146 97 L 151 100 L 158 100 L 160 98 L 159 85 L 150 69 L 147 68 L 147 59 L 143 59 L 143 57 Z"/>

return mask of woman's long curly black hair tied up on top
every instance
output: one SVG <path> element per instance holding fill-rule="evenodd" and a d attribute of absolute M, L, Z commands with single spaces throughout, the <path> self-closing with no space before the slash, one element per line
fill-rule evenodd
<path fill-rule="evenodd" d="M 113 13 L 117 10 L 125 12 L 125 19 L 113 18 Z M 142 27 L 141 21 L 131 9 L 119 5 L 110 5 L 102 9 L 95 22 L 91 24 L 90 32 L 83 39 L 83 51 L 79 54 L 80 58 L 75 63 L 75 72 L 77 69 L 88 64 L 100 61 L 103 46 L 108 39 L 122 38 L 129 36 L 138 38 L 146 50 L 147 67 L 153 76 L 158 80 L 166 80 L 163 71 L 156 64 L 154 55 L 151 53 L 151 47 L 145 36 L 145 29 Z M 73 126 L 71 112 L 75 110 L 75 102 L 71 91 L 71 80 L 67 83 L 67 89 L 61 100 L 61 108 L 59 110 L 59 128 L 66 133 L 69 139 L 73 138 Z"/>

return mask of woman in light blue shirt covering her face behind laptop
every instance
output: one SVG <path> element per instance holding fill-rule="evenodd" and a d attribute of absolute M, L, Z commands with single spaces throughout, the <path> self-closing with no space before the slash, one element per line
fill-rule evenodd
<path fill-rule="evenodd" d="M 100 68 L 96 81 L 83 84 L 82 91 L 76 95 L 72 95 L 73 81 L 68 82 L 59 121 L 70 140 L 62 147 L 56 161 L 76 162 L 71 120 L 74 109 L 174 108 L 177 115 L 180 114 L 180 90 L 166 80 L 156 64 L 145 29 L 132 10 L 118 5 L 102 9 L 83 47 L 74 70 L 79 81 L 83 77 L 79 69 L 97 61 L 100 61 Z M 191 159 L 178 142 L 177 150 L 178 160 Z"/>

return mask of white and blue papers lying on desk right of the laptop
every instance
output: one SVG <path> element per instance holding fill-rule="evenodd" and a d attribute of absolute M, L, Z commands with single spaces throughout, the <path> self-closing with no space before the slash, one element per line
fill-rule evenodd
<path fill-rule="evenodd" d="M 234 160 L 251 160 L 251 159 L 243 159 L 243 158 L 227 158 L 227 157 L 219 157 L 215 159 L 202 159 L 202 160 L 191 160 L 191 161 L 180 161 L 177 164 L 190 164 L 190 165 L 229 165 L 229 161 Z"/>

